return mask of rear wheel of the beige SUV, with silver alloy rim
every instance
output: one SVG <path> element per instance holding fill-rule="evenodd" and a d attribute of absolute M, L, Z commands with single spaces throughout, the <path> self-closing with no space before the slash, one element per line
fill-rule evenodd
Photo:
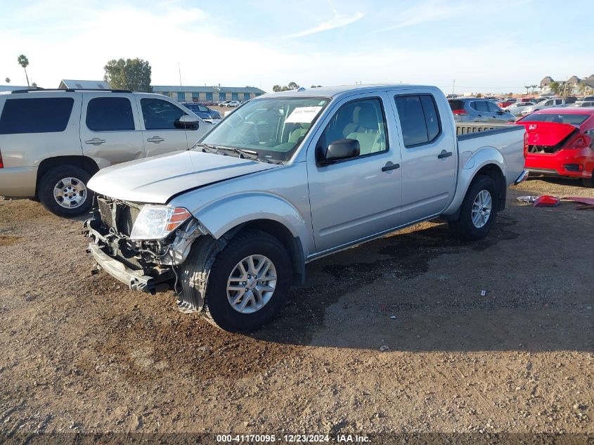
<path fill-rule="evenodd" d="M 37 197 L 58 217 L 74 217 L 89 212 L 92 192 L 86 188 L 91 174 L 74 165 L 60 165 L 49 170 L 39 181 Z"/>

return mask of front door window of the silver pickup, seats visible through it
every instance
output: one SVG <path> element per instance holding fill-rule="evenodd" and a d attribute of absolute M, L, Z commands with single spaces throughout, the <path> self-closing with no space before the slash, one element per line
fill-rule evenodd
<path fill-rule="evenodd" d="M 318 146 L 329 146 L 339 139 L 356 139 L 359 156 L 387 151 L 386 122 L 382 103 L 370 98 L 345 103 L 326 125 Z"/>

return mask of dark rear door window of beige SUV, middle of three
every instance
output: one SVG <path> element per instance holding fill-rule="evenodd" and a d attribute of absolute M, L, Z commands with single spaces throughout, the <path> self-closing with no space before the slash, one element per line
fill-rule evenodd
<path fill-rule="evenodd" d="M 125 97 L 97 97 L 86 107 L 86 127 L 91 131 L 134 130 L 132 105 Z"/>

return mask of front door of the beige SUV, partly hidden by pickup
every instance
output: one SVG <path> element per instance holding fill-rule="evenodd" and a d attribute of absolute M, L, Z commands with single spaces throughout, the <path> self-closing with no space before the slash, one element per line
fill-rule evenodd
<path fill-rule="evenodd" d="M 186 115 L 186 112 L 163 99 L 137 99 L 140 102 L 138 109 L 143 117 L 143 138 L 147 157 L 186 150 L 186 129 L 179 124 L 179 118 Z"/>

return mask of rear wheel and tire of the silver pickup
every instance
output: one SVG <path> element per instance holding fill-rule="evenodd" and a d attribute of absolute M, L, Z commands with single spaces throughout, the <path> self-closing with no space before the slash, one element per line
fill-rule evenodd
<path fill-rule="evenodd" d="M 495 222 L 498 202 L 495 181 L 490 176 L 477 175 L 462 201 L 460 217 L 448 221 L 453 236 L 462 241 L 484 238 Z"/>

